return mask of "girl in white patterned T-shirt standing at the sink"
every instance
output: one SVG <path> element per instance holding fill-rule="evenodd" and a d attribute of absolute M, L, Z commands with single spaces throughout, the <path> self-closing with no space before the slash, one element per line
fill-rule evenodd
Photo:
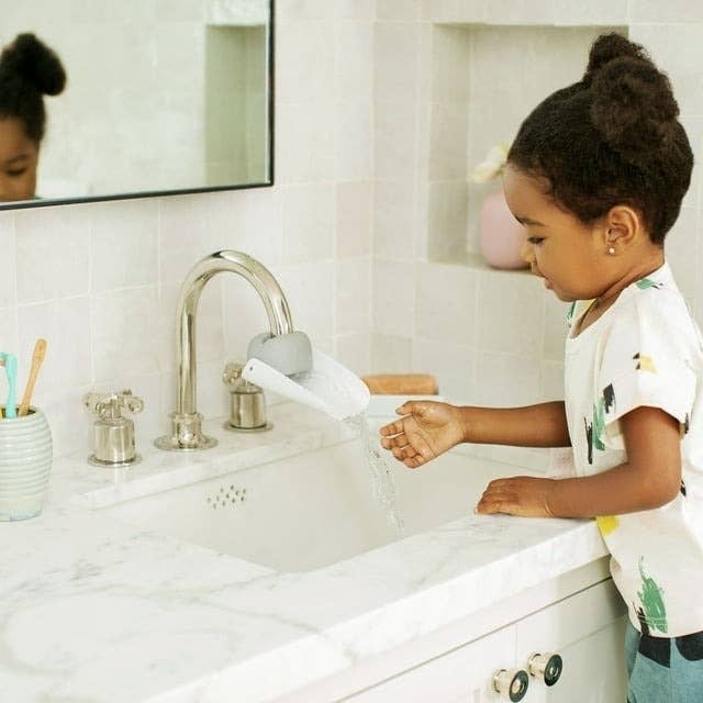
<path fill-rule="evenodd" d="M 703 700 L 703 342 L 663 254 L 693 166 L 678 113 L 643 47 L 603 35 L 510 149 L 526 259 L 571 302 L 565 401 L 408 402 L 380 431 L 411 468 L 460 442 L 572 447 L 576 478 L 491 481 L 476 510 L 596 518 L 629 612 L 631 703 Z"/>

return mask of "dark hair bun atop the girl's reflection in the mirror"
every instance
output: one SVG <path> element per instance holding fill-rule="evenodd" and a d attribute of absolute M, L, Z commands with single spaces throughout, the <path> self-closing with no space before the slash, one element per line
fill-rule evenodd
<path fill-rule="evenodd" d="M 19 34 L 3 49 L 0 68 L 19 74 L 45 96 L 57 96 L 66 86 L 60 59 L 34 34 Z"/>

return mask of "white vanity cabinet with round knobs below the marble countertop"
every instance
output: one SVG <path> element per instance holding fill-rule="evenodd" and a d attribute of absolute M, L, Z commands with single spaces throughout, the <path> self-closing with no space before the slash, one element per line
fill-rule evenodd
<path fill-rule="evenodd" d="M 515 603 L 510 605 L 515 607 Z M 529 676 L 523 701 L 624 701 L 625 617 L 624 604 L 607 578 L 337 700 L 348 703 L 498 703 L 509 699 L 491 689 L 496 669 L 527 669 L 532 654 L 557 652 L 563 661 L 559 680 L 547 687 L 540 679 Z"/>

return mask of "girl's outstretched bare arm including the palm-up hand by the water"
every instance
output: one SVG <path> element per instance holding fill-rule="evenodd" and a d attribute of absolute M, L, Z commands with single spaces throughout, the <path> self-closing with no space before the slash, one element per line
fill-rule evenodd
<path fill-rule="evenodd" d="M 380 428 L 381 444 L 416 468 L 461 442 L 524 447 L 571 445 L 563 401 L 526 408 L 458 408 L 434 401 L 409 401 L 403 417 Z"/>

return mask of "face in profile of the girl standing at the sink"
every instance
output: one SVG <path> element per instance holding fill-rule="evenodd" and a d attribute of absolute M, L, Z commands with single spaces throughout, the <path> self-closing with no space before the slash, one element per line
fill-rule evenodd
<path fill-rule="evenodd" d="M 612 282 L 604 223 L 584 225 L 545 194 L 539 180 L 507 165 L 503 174 L 507 207 L 525 226 L 523 252 L 533 274 L 559 300 L 598 298 Z"/>

